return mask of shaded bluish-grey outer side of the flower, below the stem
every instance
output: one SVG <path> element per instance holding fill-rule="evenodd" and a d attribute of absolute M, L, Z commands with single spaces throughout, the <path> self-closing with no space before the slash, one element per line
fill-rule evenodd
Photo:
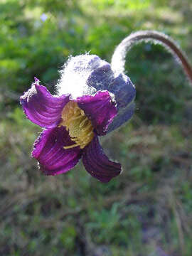
<path fill-rule="evenodd" d="M 114 75 L 116 76 L 114 77 Z M 107 133 L 117 129 L 132 117 L 136 90 L 127 75 L 114 74 L 110 64 L 106 64 L 92 71 L 87 79 L 87 84 L 97 90 L 107 90 L 114 95 L 118 113 L 107 127 Z"/>

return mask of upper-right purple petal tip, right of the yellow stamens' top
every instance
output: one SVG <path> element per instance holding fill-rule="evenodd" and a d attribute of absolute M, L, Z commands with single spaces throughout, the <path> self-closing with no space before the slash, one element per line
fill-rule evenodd
<path fill-rule="evenodd" d="M 107 127 L 117 114 L 117 108 L 112 101 L 110 93 L 97 92 L 95 96 L 78 97 L 78 106 L 82 109 L 87 117 L 92 121 L 92 125 L 98 135 L 105 135 Z"/>

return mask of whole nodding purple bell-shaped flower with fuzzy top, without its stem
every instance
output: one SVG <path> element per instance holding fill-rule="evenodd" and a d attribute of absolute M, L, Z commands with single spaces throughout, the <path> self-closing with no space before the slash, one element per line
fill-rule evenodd
<path fill-rule="evenodd" d="M 21 96 L 26 117 L 43 127 L 32 156 L 46 175 L 63 174 L 82 159 L 87 172 L 108 182 L 122 171 L 105 155 L 98 136 L 126 122 L 134 112 L 135 89 L 124 74 L 96 55 L 72 57 L 61 72 L 58 95 L 35 78 Z"/>

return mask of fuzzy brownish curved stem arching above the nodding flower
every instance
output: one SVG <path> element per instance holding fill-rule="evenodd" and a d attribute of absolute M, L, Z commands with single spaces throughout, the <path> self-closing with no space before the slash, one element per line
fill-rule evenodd
<path fill-rule="evenodd" d="M 119 43 L 117 48 L 114 50 L 114 54 L 112 55 L 111 64 L 114 72 L 124 72 L 124 64 L 127 53 L 132 46 L 141 41 L 151 41 L 151 43 L 160 43 L 161 45 L 165 46 L 165 48 L 169 50 L 174 57 L 176 57 L 176 60 L 181 63 L 183 70 L 192 84 L 192 68 L 186 58 L 186 55 L 169 36 L 157 31 L 138 31 L 130 34 L 127 36 L 127 38 L 124 38 L 124 40 Z"/>

